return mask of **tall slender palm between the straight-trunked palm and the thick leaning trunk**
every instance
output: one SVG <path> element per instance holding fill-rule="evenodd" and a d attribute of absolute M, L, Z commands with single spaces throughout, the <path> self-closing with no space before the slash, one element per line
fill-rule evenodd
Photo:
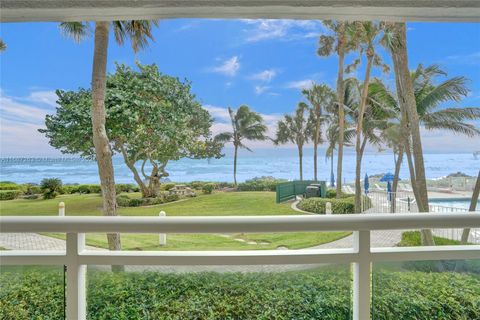
<path fill-rule="evenodd" d="M 370 84 L 370 74 L 373 66 L 380 66 L 385 72 L 388 72 L 388 66 L 383 63 L 382 58 L 376 52 L 378 45 L 381 43 L 383 35 L 383 27 L 375 22 L 354 22 L 347 30 L 354 48 L 365 55 L 367 64 L 365 67 L 365 78 L 362 85 L 360 104 L 357 111 L 357 137 L 355 143 L 356 166 L 355 166 L 355 212 L 361 212 L 362 205 L 362 185 L 361 185 L 361 156 L 362 150 L 362 133 L 364 126 L 364 116 L 367 108 L 368 87 Z M 356 68 L 360 64 L 360 58 L 356 59 L 352 65 L 347 67 L 347 72 Z M 364 141 L 366 141 L 364 139 Z"/>

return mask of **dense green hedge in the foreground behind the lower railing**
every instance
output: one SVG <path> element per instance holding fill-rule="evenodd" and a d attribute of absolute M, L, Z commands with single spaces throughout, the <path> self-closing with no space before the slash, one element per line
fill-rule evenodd
<path fill-rule="evenodd" d="M 286 273 L 110 273 L 89 271 L 88 319 L 351 318 L 351 275 Z M 4 269 L 0 319 L 61 319 L 63 277 Z M 468 274 L 373 274 L 376 320 L 480 319 L 480 278 Z"/>

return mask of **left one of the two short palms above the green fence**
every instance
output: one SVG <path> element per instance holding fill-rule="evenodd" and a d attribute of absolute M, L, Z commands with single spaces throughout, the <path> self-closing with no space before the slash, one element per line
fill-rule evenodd
<path fill-rule="evenodd" d="M 277 123 L 276 145 L 292 142 L 297 145 L 300 180 L 303 180 L 303 146 L 308 143 L 313 132 L 313 124 L 308 119 L 308 106 L 300 102 L 293 116 L 286 114 Z"/>

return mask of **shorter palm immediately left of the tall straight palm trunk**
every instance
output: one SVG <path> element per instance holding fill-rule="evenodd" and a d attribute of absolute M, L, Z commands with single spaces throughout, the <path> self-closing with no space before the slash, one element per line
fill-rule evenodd
<path fill-rule="evenodd" d="M 304 97 L 310 103 L 310 122 L 313 124 L 313 176 L 317 181 L 317 160 L 318 160 L 318 145 L 322 143 L 322 124 L 326 121 L 324 115 L 327 108 L 335 102 L 335 93 L 326 84 L 315 84 L 310 89 L 302 91 Z"/>

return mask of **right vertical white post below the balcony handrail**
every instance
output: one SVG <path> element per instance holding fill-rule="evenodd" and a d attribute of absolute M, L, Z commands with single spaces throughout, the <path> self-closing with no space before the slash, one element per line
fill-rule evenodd
<path fill-rule="evenodd" d="M 353 319 L 370 319 L 371 259 L 370 231 L 354 232 L 358 261 L 353 264 Z"/>

